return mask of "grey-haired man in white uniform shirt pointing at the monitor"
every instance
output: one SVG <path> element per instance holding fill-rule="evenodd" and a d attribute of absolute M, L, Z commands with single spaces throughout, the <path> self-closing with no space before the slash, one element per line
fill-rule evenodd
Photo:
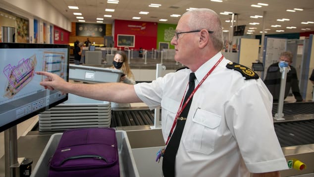
<path fill-rule="evenodd" d="M 151 109 L 161 105 L 162 134 L 167 142 L 189 74 L 194 72 L 196 90 L 174 156 L 175 174 L 165 177 L 249 177 L 250 173 L 279 177 L 278 171 L 288 167 L 273 127 L 272 96 L 252 70 L 231 63 L 220 53 L 219 16 L 210 9 L 186 12 L 171 44 L 175 60 L 189 69 L 152 83 L 72 84 L 52 73 L 37 73 L 47 76 L 41 82 L 47 89 L 116 103 L 144 102 Z M 167 164 L 164 166 L 165 172 Z"/>

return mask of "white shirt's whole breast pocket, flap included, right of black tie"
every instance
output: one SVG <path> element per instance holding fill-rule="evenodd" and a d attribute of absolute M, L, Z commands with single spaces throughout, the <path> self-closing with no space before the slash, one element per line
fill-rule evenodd
<path fill-rule="evenodd" d="M 220 122 L 221 116 L 197 109 L 183 139 L 187 151 L 210 154 L 215 147 L 215 138 Z"/>

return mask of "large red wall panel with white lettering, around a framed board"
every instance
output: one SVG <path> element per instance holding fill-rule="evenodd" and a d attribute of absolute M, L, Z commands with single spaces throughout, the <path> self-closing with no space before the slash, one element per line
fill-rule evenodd
<path fill-rule="evenodd" d="M 134 48 L 129 47 L 129 49 L 139 50 L 140 47 L 146 50 L 156 49 L 157 26 L 154 22 L 114 20 L 114 47 L 117 47 L 119 34 L 135 36 Z"/>

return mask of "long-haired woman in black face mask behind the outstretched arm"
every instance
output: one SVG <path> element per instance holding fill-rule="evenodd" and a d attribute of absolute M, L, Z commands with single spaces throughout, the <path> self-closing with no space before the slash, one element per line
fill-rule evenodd
<path fill-rule="evenodd" d="M 118 69 L 123 72 L 120 78 L 120 82 L 126 84 L 135 84 L 134 75 L 127 62 L 126 54 L 123 51 L 117 51 L 114 55 L 112 66 L 110 68 Z M 118 104 L 111 102 L 111 107 L 130 107 L 130 104 Z"/>

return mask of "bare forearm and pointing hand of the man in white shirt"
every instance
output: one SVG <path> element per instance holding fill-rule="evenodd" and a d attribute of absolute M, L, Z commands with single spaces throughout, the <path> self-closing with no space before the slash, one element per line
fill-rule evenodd
<path fill-rule="evenodd" d="M 136 95 L 133 85 L 124 83 L 73 84 L 50 72 L 38 71 L 36 73 L 46 76 L 45 80 L 40 82 L 45 89 L 116 103 L 142 102 Z"/>

